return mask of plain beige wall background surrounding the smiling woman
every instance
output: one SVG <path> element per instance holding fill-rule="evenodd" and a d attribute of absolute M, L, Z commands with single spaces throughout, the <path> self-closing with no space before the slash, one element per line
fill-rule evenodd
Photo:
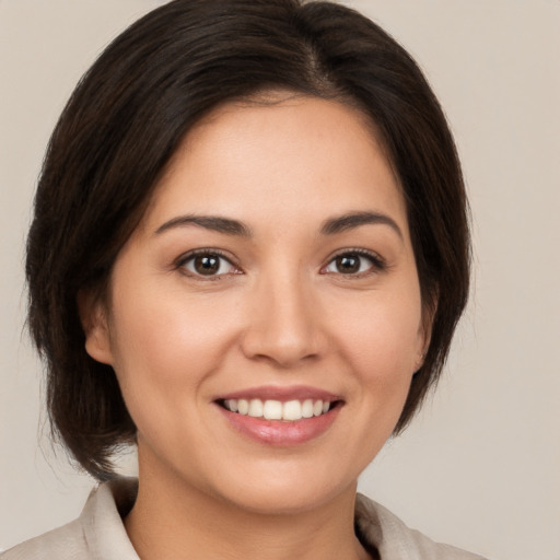
<path fill-rule="evenodd" d="M 0 549 L 74 517 L 23 334 L 23 244 L 49 132 L 81 73 L 155 0 L 0 0 Z M 354 0 L 446 109 L 474 212 L 475 291 L 440 390 L 361 489 L 438 540 L 560 559 L 560 1 Z"/>

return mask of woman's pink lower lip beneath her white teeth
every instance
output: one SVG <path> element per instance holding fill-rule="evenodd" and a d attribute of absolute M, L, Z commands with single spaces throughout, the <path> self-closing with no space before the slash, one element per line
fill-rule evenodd
<path fill-rule="evenodd" d="M 318 438 L 330 428 L 340 410 L 340 407 L 337 406 L 325 415 L 287 422 L 254 418 L 231 412 L 220 406 L 219 408 L 230 425 L 245 436 L 262 444 L 283 447 L 301 445 Z"/>

